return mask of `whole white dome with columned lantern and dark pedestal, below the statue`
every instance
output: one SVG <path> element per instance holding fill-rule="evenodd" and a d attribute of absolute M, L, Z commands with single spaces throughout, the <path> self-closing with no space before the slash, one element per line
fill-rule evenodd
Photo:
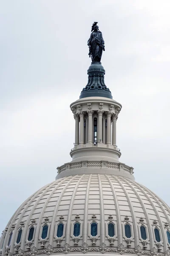
<path fill-rule="evenodd" d="M 92 61 L 88 84 L 70 106 L 72 161 L 17 209 L 0 238 L 0 255 L 170 255 L 170 208 L 119 161 L 122 105 L 112 99 L 104 74 Z"/>

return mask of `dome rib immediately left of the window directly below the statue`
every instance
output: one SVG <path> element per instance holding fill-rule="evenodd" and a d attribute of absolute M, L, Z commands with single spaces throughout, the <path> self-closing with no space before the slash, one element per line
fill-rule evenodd
<path fill-rule="evenodd" d="M 87 240 L 88 240 L 88 195 L 89 195 L 89 188 L 91 183 L 91 176 L 92 174 L 88 179 L 87 192 L 85 196 L 85 214 L 84 214 L 84 230 L 83 230 L 83 242 L 85 243 L 87 243 Z"/>

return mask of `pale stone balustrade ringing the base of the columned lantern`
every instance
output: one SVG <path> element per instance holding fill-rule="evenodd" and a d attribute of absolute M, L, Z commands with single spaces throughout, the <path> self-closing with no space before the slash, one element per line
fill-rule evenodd
<path fill-rule="evenodd" d="M 99 168 L 99 169 L 116 169 L 119 171 L 128 172 L 133 174 L 133 167 L 127 166 L 124 163 L 112 163 L 108 161 L 81 161 L 75 163 L 65 163 L 57 167 L 58 174 L 64 171 L 81 168 Z"/>

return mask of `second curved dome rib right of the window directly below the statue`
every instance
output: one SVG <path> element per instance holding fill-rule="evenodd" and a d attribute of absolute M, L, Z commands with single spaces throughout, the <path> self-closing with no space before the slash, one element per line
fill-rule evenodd
<path fill-rule="evenodd" d="M 122 224 L 121 224 L 121 218 L 120 218 L 119 203 L 118 203 L 118 200 L 117 200 L 117 196 L 116 196 L 114 186 L 113 186 L 110 178 L 108 177 L 108 175 L 105 175 L 105 177 L 107 177 L 108 182 L 110 183 L 111 189 L 112 189 L 112 192 L 113 192 L 113 198 L 114 198 L 115 209 L 116 209 L 116 217 L 117 217 L 118 244 L 122 244 L 122 241 L 123 241 L 123 238 L 122 238 Z"/>

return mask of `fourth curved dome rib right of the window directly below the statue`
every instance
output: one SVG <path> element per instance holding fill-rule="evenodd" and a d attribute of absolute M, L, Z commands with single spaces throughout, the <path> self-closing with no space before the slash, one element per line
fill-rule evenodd
<path fill-rule="evenodd" d="M 149 233 L 149 239 L 150 239 L 150 248 L 153 248 L 154 247 L 154 239 L 153 239 L 153 230 L 152 230 L 152 227 L 151 227 L 151 225 L 150 225 L 150 217 L 149 217 L 149 215 L 148 215 L 148 213 L 147 213 L 147 210 L 146 210 L 146 207 L 144 206 L 144 203 L 143 203 L 143 201 L 141 200 L 141 198 L 140 198 L 140 196 L 139 196 L 139 194 L 138 194 L 138 192 L 134 189 L 134 187 L 130 184 L 130 182 L 132 182 L 131 180 L 130 180 L 130 182 L 127 180 L 127 179 L 125 179 L 125 178 L 122 178 L 122 180 L 124 180 L 125 182 L 127 182 L 128 183 L 128 185 L 131 187 L 131 189 L 133 189 L 133 191 L 135 192 L 135 194 L 137 195 L 137 198 L 139 199 L 139 201 L 140 201 L 140 203 L 141 203 L 141 205 L 142 205 L 142 208 L 143 208 L 143 210 L 144 210 L 144 214 L 145 214 L 145 217 L 146 217 L 146 219 L 147 219 L 147 227 L 148 227 L 148 233 Z M 134 183 L 133 183 L 133 185 L 134 185 Z M 135 183 L 135 186 L 137 186 L 136 185 L 136 183 Z M 137 186 L 138 187 L 138 186 Z"/>

